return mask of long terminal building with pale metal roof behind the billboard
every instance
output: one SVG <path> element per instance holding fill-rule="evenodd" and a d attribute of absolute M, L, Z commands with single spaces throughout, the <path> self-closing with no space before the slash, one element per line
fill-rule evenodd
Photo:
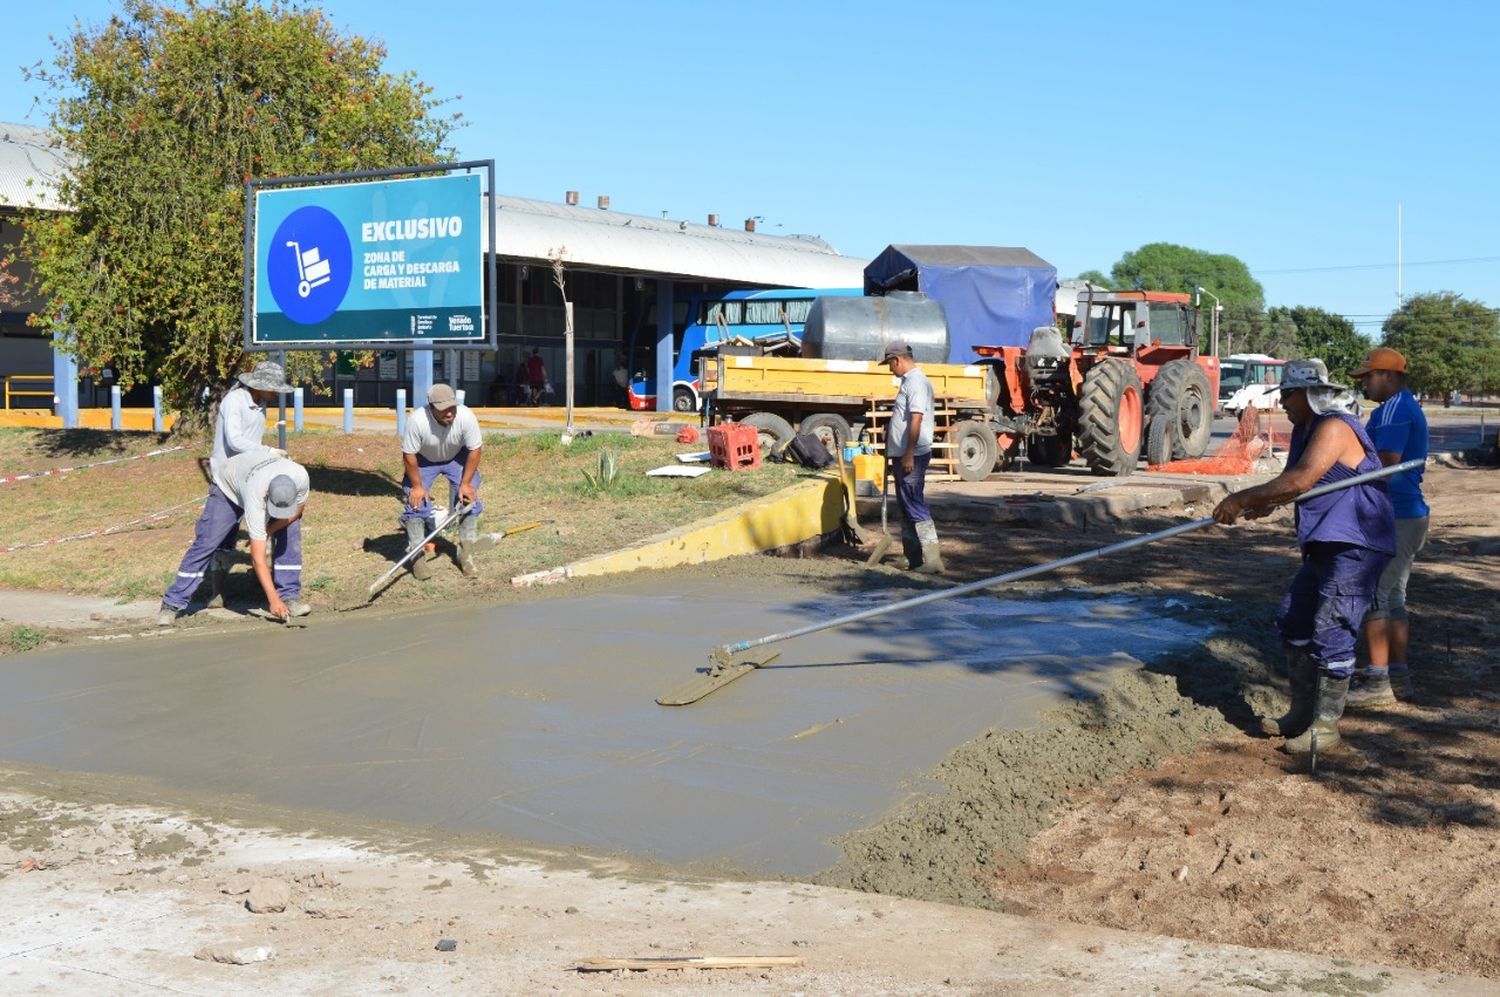
<path fill-rule="evenodd" d="M 22 208 L 63 210 L 52 187 L 64 168 L 50 132 L 0 123 L 0 258 L 15 252 Z M 566 351 L 562 292 L 552 265 L 556 256 L 573 304 L 578 405 L 621 403 L 615 367 L 627 364 L 633 375 L 642 373 L 644 364 L 660 367 L 654 346 L 674 331 L 681 334 L 687 301 L 694 297 L 754 288 L 860 288 L 867 262 L 842 256 L 816 237 L 756 232 L 753 220 L 724 228 L 716 216 L 690 222 L 627 214 L 612 211 L 608 196 L 580 205 L 574 192 L 562 202 L 489 195 L 486 216 L 495 226 L 498 306 L 490 321 L 496 349 L 434 351 L 434 379 L 462 388 L 471 405 L 513 403 L 518 367 L 534 349 L 555 387 L 550 402 L 561 403 Z M 30 277 L 24 259 L 10 271 L 22 283 Z M 26 324 L 39 307 L 24 294 L 0 306 L 0 375 L 28 378 L 30 387 L 48 384 L 54 369 L 48 337 Z M 106 406 L 111 376 L 108 369 L 84 372 L 80 403 Z M 352 388 L 354 405 L 388 408 L 398 388 L 406 388 L 410 397 L 411 384 L 408 349 L 376 352 L 374 363 L 363 366 L 340 355 L 322 382 L 309 387 L 308 403 L 334 405 Z M 34 399 L 22 396 L 12 406 L 42 408 L 27 400 Z M 658 397 L 657 408 L 670 408 L 670 402 Z M 126 403 L 150 405 L 150 387 L 140 385 Z"/>

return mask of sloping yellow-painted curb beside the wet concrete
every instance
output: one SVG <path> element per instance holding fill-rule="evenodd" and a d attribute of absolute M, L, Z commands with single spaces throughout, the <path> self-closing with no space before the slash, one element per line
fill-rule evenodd
<path fill-rule="evenodd" d="M 566 579 L 620 574 L 640 568 L 675 568 L 684 564 L 722 561 L 742 553 L 788 547 L 834 532 L 843 523 L 844 486 L 837 472 L 822 472 L 759 499 L 750 499 L 717 516 L 651 537 L 622 550 L 522 574 L 516 588 L 550 585 Z"/>

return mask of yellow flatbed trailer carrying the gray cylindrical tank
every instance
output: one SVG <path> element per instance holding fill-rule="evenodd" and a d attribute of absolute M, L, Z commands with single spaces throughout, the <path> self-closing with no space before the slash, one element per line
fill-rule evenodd
<path fill-rule="evenodd" d="M 976 481 L 999 459 L 992 423 L 994 373 L 980 364 L 921 364 L 933 385 L 932 477 Z M 756 426 L 762 447 L 813 433 L 830 450 L 861 438 L 882 445 L 885 418 L 898 382 L 873 360 L 807 360 L 802 357 L 705 357 L 702 391 L 711 421 Z"/>

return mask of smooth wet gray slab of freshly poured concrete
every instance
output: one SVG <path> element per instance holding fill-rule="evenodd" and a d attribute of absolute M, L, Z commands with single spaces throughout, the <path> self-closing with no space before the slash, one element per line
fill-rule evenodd
<path fill-rule="evenodd" d="M 760 579 L 0 661 L 0 759 L 156 777 L 450 831 L 828 867 L 958 744 L 1197 642 L 1180 604 L 978 597 L 788 642 L 704 702 L 654 696 L 711 646 L 894 601 Z"/>

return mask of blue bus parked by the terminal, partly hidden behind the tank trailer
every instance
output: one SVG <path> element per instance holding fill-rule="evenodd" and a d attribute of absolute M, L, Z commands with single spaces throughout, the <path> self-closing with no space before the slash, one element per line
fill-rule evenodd
<path fill-rule="evenodd" d="M 696 412 L 699 397 L 693 354 L 726 339 L 770 339 L 778 334 L 802 337 L 813 298 L 860 297 L 862 288 L 778 288 L 774 291 L 723 291 L 676 301 L 672 322 L 672 409 Z M 654 309 L 636 327 L 630 342 L 630 408 L 656 409 L 656 315 Z"/>

